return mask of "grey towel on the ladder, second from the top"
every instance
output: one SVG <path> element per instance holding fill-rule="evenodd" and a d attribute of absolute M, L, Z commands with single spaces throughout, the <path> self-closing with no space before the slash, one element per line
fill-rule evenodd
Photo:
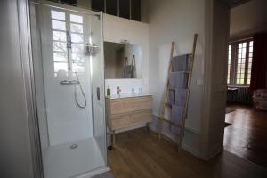
<path fill-rule="evenodd" d="M 170 72 L 170 88 L 187 88 L 188 77 L 188 73 L 185 72 Z"/>

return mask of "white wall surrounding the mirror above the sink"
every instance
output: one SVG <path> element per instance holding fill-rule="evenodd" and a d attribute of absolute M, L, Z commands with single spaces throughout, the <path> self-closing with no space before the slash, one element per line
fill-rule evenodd
<path fill-rule="evenodd" d="M 106 88 L 110 85 L 111 93 L 116 93 L 120 86 L 121 93 L 130 93 L 131 89 L 142 87 L 143 92 L 149 91 L 149 26 L 146 23 L 126 20 L 109 14 L 104 14 L 104 41 L 120 43 L 128 40 L 130 44 L 141 45 L 141 79 L 106 79 Z"/>

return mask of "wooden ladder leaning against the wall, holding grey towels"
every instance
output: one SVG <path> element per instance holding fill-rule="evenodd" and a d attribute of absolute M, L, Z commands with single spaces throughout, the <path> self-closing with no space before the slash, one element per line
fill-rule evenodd
<path fill-rule="evenodd" d="M 172 46 L 171 46 L 171 55 L 170 55 L 169 64 L 168 64 L 167 82 L 166 82 L 166 86 L 165 86 L 164 93 L 163 93 L 163 99 L 162 99 L 161 104 L 160 104 L 158 142 L 160 141 L 160 139 L 162 137 L 162 128 L 163 128 L 164 121 L 166 121 L 170 127 L 171 127 L 171 125 L 174 125 L 174 126 L 178 127 L 180 130 L 179 138 L 178 138 L 178 141 L 176 144 L 178 151 L 181 150 L 181 148 L 182 148 L 182 138 L 184 135 L 185 117 L 187 116 L 187 113 L 188 113 L 188 102 L 189 102 L 189 97 L 190 97 L 190 85 L 191 85 L 191 78 L 192 78 L 192 70 L 193 70 L 193 66 L 194 66 L 197 39 L 198 39 L 198 34 L 195 34 L 193 49 L 192 49 L 192 53 L 191 53 L 190 69 L 189 69 L 189 73 L 188 73 L 189 77 L 188 77 L 188 83 L 187 83 L 187 93 L 186 93 L 186 97 L 185 97 L 184 109 L 182 112 L 181 125 L 174 124 L 174 122 L 171 120 L 171 118 L 169 120 L 164 118 L 166 107 L 171 108 L 170 104 L 168 103 L 168 92 L 169 92 L 169 85 L 170 85 L 169 84 L 169 77 L 170 77 L 170 72 L 172 69 L 171 60 L 174 57 L 174 45 L 175 45 L 174 42 L 172 42 Z"/>

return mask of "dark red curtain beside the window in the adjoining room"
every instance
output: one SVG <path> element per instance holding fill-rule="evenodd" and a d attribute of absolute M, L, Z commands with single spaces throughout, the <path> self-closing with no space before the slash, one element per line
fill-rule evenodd
<path fill-rule="evenodd" d="M 267 34 L 256 34 L 253 39 L 254 49 L 250 89 L 257 90 L 266 88 Z"/>

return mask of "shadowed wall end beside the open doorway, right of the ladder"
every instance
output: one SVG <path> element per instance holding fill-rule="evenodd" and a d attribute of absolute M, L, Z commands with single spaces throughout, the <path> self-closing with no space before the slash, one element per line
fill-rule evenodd
<path fill-rule="evenodd" d="M 220 1 L 207 0 L 205 102 L 201 141 L 205 159 L 223 151 L 229 24 L 229 6 Z"/>

